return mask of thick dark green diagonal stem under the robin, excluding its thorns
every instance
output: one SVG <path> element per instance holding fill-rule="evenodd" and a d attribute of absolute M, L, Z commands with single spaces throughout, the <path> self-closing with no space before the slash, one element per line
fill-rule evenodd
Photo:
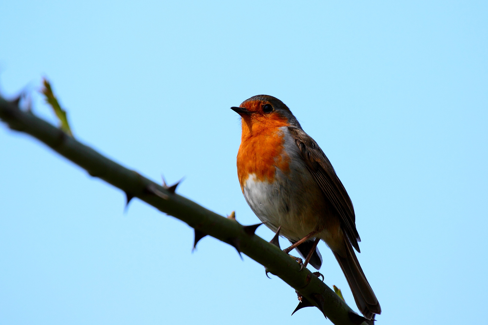
<path fill-rule="evenodd" d="M 249 234 L 237 221 L 207 210 L 197 203 L 174 193 L 139 173 L 106 158 L 92 148 L 77 141 L 57 127 L 20 110 L 18 101 L 7 101 L 0 96 L 0 119 L 12 130 L 30 134 L 68 158 L 91 176 L 125 191 L 128 197 L 137 197 L 194 228 L 196 233 L 215 237 L 236 247 L 277 275 L 303 296 L 301 304 L 318 307 L 336 325 L 364 324 L 339 296 L 315 274 L 304 268 L 288 254 L 263 238 Z M 371 322 L 372 323 L 372 322 Z"/>

